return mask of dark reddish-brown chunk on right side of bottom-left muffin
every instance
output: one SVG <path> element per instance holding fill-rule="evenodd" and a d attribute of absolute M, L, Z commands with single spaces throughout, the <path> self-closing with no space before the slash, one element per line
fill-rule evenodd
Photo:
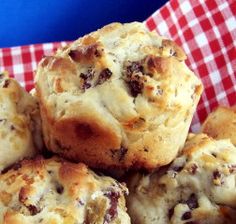
<path fill-rule="evenodd" d="M 118 200 L 120 198 L 120 193 L 110 191 L 104 193 L 104 195 L 110 199 L 110 208 L 106 211 L 103 223 L 109 224 L 117 216 L 117 206 L 118 206 Z"/>

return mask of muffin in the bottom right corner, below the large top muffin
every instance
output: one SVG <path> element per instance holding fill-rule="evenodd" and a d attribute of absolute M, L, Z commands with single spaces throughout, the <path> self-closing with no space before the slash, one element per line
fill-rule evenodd
<path fill-rule="evenodd" d="M 130 180 L 134 224 L 236 223 L 236 148 L 229 140 L 190 136 L 163 170 Z"/>

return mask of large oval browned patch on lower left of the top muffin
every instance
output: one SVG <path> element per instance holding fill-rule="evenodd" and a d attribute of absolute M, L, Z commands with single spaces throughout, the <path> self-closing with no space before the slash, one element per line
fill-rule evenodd
<path fill-rule="evenodd" d="M 108 156 L 110 149 L 119 148 L 121 144 L 120 139 L 109 127 L 101 126 L 92 118 L 61 119 L 53 122 L 48 129 L 54 136 L 54 142 L 51 141 L 49 146 L 54 152 L 88 164 L 89 160 L 101 163 L 97 152 L 100 152 L 99 155 L 103 160 L 106 157 L 108 161 L 111 160 Z M 87 147 L 91 145 L 92 149 Z"/>

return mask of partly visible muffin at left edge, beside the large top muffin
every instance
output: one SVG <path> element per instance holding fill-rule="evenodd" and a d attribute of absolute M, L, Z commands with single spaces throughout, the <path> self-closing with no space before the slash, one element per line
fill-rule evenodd
<path fill-rule="evenodd" d="M 0 74 L 0 172 L 41 147 L 36 100 L 16 80 Z"/>

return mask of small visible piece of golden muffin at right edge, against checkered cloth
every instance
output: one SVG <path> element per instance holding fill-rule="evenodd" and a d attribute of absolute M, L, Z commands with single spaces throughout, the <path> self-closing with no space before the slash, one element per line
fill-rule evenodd
<path fill-rule="evenodd" d="M 203 123 L 202 132 L 215 139 L 228 138 L 236 145 L 236 107 L 216 108 Z"/>

